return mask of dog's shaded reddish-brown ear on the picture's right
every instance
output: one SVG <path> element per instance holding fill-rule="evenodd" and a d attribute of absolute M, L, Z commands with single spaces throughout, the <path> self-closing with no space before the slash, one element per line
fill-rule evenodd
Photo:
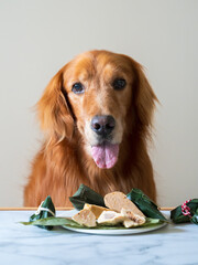
<path fill-rule="evenodd" d="M 158 103 L 158 99 L 144 74 L 143 66 L 136 62 L 133 62 L 133 65 L 135 65 L 135 91 L 133 102 L 136 117 L 141 129 L 148 130 L 148 128 L 152 127 L 153 110 L 155 108 L 155 103 Z"/>

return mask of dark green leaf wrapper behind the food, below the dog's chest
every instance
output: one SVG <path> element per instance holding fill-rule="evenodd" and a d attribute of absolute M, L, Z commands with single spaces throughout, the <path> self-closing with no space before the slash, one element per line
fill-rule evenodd
<path fill-rule="evenodd" d="M 85 203 L 106 206 L 103 198 L 85 184 L 80 184 L 77 192 L 73 197 L 69 197 L 69 200 L 77 210 L 84 209 Z"/>

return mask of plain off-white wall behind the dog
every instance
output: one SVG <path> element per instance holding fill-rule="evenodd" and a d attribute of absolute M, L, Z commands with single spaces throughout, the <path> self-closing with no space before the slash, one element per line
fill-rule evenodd
<path fill-rule="evenodd" d="M 0 0 L 0 206 L 20 206 L 42 138 L 33 106 L 91 49 L 146 67 L 161 102 L 152 160 L 158 203 L 198 198 L 198 1 Z"/>

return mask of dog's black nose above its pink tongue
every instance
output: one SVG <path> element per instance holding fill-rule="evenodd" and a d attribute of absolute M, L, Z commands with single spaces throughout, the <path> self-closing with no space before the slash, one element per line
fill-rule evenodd
<path fill-rule="evenodd" d="M 91 120 L 91 129 L 103 137 L 110 135 L 114 126 L 116 120 L 110 115 L 95 116 Z"/>

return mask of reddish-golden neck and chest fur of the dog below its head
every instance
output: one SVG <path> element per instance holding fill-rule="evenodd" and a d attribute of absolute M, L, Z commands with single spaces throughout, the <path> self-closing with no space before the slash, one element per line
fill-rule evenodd
<path fill-rule="evenodd" d="M 45 142 L 32 165 L 31 186 L 26 186 L 24 193 L 25 205 L 38 205 L 51 195 L 55 206 L 72 206 L 69 197 L 80 183 L 101 195 L 112 191 L 128 193 L 132 188 L 140 188 L 155 201 L 153 168 L 145 149 L 145 139 L 141 134 L 125 135 L 120 145 L 122 156 L 119 156 L 112 169 L 96 166 L 79 135 L 59 142 L 55 138 L 48 145 Z M 38 171 L 35 165 L 40 167 Z M 36 181 L 32 176 L 36 176 Z M 29 192 L 29 189 L 33 191 Z"/>

